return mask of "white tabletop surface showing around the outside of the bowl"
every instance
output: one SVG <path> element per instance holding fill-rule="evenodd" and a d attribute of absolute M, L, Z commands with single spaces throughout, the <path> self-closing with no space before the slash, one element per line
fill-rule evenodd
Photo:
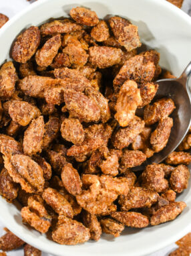
<path fill-rule="evenodd" d="M 32 4 L 33 1 L 35 0 L 32 0 L 30 2 L 28 2 L 27 0 L 0 0 L 0 13 L 7 15 L 9 19 L 11 19 L 13 15 L 17 14 L 19 11 L 21 11 L 28 5 Z M 191 16 L 191 0 L 184 0 L 184 3 L 182 5 L 182 10 L 186 11 L 186 13 L 188 13 Z M 4 233 L 3 227 L 4 227 L 3 223 L 0 222 L 0 236 L 3 235 Z M 162 249 L 156 253 L 152 253 L 151 255 L 148 255 L 148 256 L 168 256 L 168 254 L 171 251 L 174 251 L 174 249 L 176 249 L 175 244 L 170 245 L 165 249 Z M 11 251 L 7 253 L 7 256 L 23 256 L 23 255 L 24 255 L 23 249 L 17 250 L 17 251 Z M 53 256 L 53 255 L 42 253 L 42 256 Z M 63 253 L 63 256 L 65 256 L 64 253 Z"/>

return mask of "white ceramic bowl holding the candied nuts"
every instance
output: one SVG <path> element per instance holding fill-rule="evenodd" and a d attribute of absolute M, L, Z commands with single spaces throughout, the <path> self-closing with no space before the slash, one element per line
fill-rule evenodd
<path fill-rule="evenodd" d="M 9 59 L 11 43 L 25 27 L 41 25 L 50 17 L 68 15 L 72 7 L 83 5 L 98 13 L 122 15 L 139 27 L 142 42 L 161 54 L 160 64 L 178 76 L 191 60 L 191 18 L 164 0 L 41 0 L 33 3 L 0 31 L 0 63 Z M 18 237 L 42 251 L 64 256 L 148 255 L 176 241 L 191 229 L 191 189 L 185 190 L 178 200 L 188 205 L 172 222 L 146 229 L 126 229 L 113 239 L 103 235 L 97 243 L 65 246 L 49 241 L 45 235 L 29 230 L 22 224 L 19 210 L 0 198 L 0 219 Z"/>

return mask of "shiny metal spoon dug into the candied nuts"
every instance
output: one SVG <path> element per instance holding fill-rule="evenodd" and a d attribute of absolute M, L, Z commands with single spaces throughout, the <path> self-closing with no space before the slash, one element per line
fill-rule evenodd
<path fill-rule="evenodd" d="M 159 84 L 158 92 L 154 100 L 169 97 L 174 101 L 176 109 L 171 117 L 174 125 L 172 127 L 168 143 L 162 151 L 148 158 L 142 166 L 136 170 L 143 170 L 148 164 L 160 164 L 172 153 L 186 136 L 191 125 L 191 94 L 188 88 L 188 80 L 191 75 L 191 62 L 188 64 L 180 78 L 162 79 L 156 81 Z"/>

